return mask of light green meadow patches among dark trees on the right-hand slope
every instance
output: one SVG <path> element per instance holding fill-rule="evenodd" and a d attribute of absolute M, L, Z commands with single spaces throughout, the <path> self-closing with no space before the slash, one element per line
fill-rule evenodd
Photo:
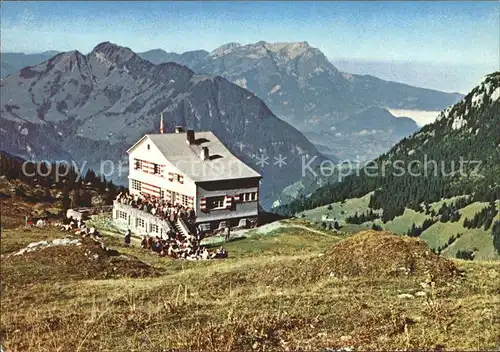
<path fill-rule="evenodd" d="M 346 224 L 345 218 L 355 212 L 362 213 L 368 210 L 368 203 L 370 201 L 370 194 L 367 194 L 361 198 L 353 198 L 345 201 L 344 204 L 337 202 L 332 204 L 332 210 L 328 210 L 328 206 L 322 206 L 315 209 L 310 209 L 299 213 L 298 216 L 304 214 L 304 219 L 312 222 L 318 222 L 321 220 L 321 216 L 325 214 L 332 214 L 331 216 L 337 217 L 340 220 L 342 230 L 348 233 L 355 233 L 367 228 L 371 228 L 373 222 L 366 222 L 361 225 Z M 436 203 L 431 204 L 431 209 L 438 211 L 443 203 L 451 204 L 458 197 L 453 197 L 450 199 L 444 199 Z M 450 247 L 446 248 L 442 254 L 448 257 L 455 257 L 458 250 L 472 250 L 477 248 L 476 259 L 479 260 L 490 260 L 499 259 L 500 255 L 495 252 L 492 243 L 491 230 L 484 231 L 483 229 L 466 229 L 463 227 L 463 222 L 465 218 L 471 219 L 474 214 L 486 207 L 488 203 L 476 202 L 466 206 L 460 210 L 461 218 L 458 222 L 452 223 L 441 223 L 437 222 L 430 228 L 425 230 L 421 238 L 426 241 L 431 248 L 437 249 L 448 242 L 451 236 L 462 233 L 463 236 L 459 238 Z M 495 220 L 500 220 L 500 202 L 497 202 L 499 208 L 499 214 Z M 341 215 L 341 211 L 345 214 Z M 423 212 L 415 212 L 412 209 L 405 209 L 403 215 L 396 217 L 392 221 L 388 221 L 383 224 L 381 220 L 375 220 L 374 222 L 384 229 L 404 234 L 406 233 L 413 223 L 417 226 L 421 226 L 425 219 L 429 218 L 429 215 L 425 215 Z"/>

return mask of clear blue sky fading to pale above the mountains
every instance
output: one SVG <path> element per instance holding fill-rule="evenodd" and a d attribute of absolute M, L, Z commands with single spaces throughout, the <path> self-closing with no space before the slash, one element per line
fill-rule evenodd
<path fill-rule="evenodd" d="M 307 41 L 339 69 L 466 92 L 499 69 L 499 22 L 495 1 L 2 1 L 1 51 L 87 53 L 110 41 L 135 52 L 184 52 Z"/>

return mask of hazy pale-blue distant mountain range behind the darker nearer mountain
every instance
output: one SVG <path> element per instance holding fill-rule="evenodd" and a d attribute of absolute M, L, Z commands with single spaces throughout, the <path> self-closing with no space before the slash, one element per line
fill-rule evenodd
<path fill-rule="evenodd" d="M 5 53 L 2 67 L 19 70 L 50 53 Z M 342 160 L 371 160 L 418 129 L 413 120 L 390 110 L 442 110 L 463 97 L 340 72 L 307 42 L 229 43 L 211 52 L 155 49 L 138 55 L 153 64 L 175 62 L 226 78 L 262 99 L 324 154 Z M 13 69 L 2 68 L 2 77 Z"/>

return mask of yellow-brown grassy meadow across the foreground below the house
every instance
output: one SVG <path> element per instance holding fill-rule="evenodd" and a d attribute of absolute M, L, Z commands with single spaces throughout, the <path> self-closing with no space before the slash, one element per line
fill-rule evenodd
<path fill-rule="evenodd" d="M 55 237 L 61 233 L 6 230 L 2 255 Z M 500 263 L 456 261 L 465 281 L 429 291 L 430 304 L 397 297 L 422 289 L 407 279 L 325 277 L 308 285 L 290 280 L 303 258 L 323 253 L 338 240 L 283 226 L 267 236 L 228 243 L 228 260 L 195 263 L 120 248 L 165 274 L 44 282 L 42 272 L 29 286 L 16 281 L 23 267 L 2 258 L 2 343 L 12 351 L 262 351 L 476 350 L 500 342 L 494 321 Z M 119 245 L 116 238 L 106 242 Z M 65 262 L 55 257 L 54 265 L 63 269 Z"/>

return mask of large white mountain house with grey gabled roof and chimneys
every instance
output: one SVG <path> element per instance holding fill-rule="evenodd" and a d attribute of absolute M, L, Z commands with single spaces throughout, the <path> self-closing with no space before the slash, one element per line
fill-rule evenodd
<path fill-rule="evenodd" d="M 148 134 L 128 151 L 129 191 L 193 208 L 204 230 L 251 226 L 258 222 L 261 175 L 236 158 L 212 132 Z M 168 229 L 141 211 L 116 204 L 121 227 L 148 234 Z M 139 220 L 138 220 L 139 219 Z M 154 219 L 154 218 L 153 218 Z M 161 230 L 163 228 L 164 230 Z"/>

